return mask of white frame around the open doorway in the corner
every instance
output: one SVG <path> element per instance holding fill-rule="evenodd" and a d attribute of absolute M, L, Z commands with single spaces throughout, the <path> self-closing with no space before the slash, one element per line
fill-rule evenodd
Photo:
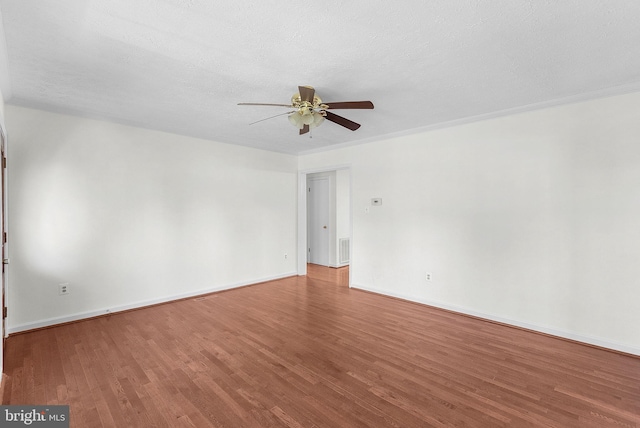
<path fill-rule="evenodd" d="M 349 171 L 349 239 L 351 245 L 349 248 L 349 266 L 353 266 L 353 172 L 351 164 L 336 165 L 323 168 L 314 168 L 298 171 L 298 250 L 297 264 L 298 275 L 307 274 L 307 175 L 318 172 L 331 172 L 338 170 Z M 351 275 L 353 269 L 349 269 L 349 287 L 351 287 Z"/>

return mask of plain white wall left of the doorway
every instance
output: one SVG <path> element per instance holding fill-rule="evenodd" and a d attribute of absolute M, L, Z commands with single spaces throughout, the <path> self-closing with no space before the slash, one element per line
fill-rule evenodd
<path fill-rule="evenodd" d="M 10 333 L 296 273 L 294 156 L 14 106 L 6 122 Z"/>

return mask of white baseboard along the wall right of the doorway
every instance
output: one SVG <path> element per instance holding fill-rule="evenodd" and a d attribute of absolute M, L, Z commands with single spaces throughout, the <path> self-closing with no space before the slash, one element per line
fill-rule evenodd
<path fill-rule="evenodd" d="M 355 288 L 355 289 L 359 289 L 359 290 L 363 290 L 363 291 L 368 291 L 368 292 L 371 292 L 371 293 L 381 294 L 383 296 L 396 297 L 398 299 L 403 299 L 403 300 L 407 300 L 407 301 L 410 301 L 410 302 L 420 303 L 420 304 L 427 305 L 427 306 L 433 306 L 433 307 L 440 308 L 440 309 L 446 309 L 446 310 L 449 310 L 449 311 L 452 311 L 452 312 L 457 312 L 457 313 L 464 314 L 464 315 L 470 315 L 470 316 L 474 316 L 474 317 L 478 317 L 478 318 L 483 318 L 483 319 L 486 319 L 486 320 L 489 320 L 489 321 L 495 321 L 495 322 L 499 322 L 499 323 L 502 323 L 502 324 L 509 324 L 509 325 L 514 326 L 514 327 L 520 327 L 520 328 L 524 328 L 524 329 L 527 329 L 527 330 L 533 330 L 533 331 L 549 334 L 549 335 L 560 337 L 560 338 L 564 338 L 564 339 L 574 340 L 576 342 L 582 342 L 582 343 L 589 344 L 589 345 L 595 345 L 595 346 L 598 346 L 598 347 L 601 347 L 601 348 L 607 348 L 607 349 L 611 349 L 611 350 L 614 350 L 614 351 L 620 351 L 620 352 L 624 352 L 624 353 L 627 353 L 627 354 L 640 356 L 640 348 L 635 348 L 635 347 L 632 347 L 632 346 L 611 342 L 611 341 L 606 340 L 606 339 L 590 337 L 590 336 L 584 336 L 584 335 L 581 335 L 581 334 L 575 334 L 575 333 L 571 333 L 571 332 L 568 332 L 568 331 L 555 329 L 553 327 L 548 327 L 548 326 L 540 326 L 540 325 L 536 325 L 536 324 L 530 324 L 530 323 L 526 323 L 526 322 L 522 322 L 522 321 L 518 321 L 518 320 L 513 320 L 513 319 L 504 318 L 504 317 L 500 317 L 500 316 L 496 316 L 496 315 L 492 315 L 492 314 L 486 314 L 486 313 L 483 313 L 483 312 L 474 311 L 474 310 L 468 309 L 468 308 L 462 308 L 462 307 L 458 307 L 458 306 L 454 306 L 454 305 L 449 305 L 449 304 L 442 303 L 442 302 L 435 302 L 435 301 L 428 301 L 428 300 L 423 300 L 423 299 L 416 299 L 415 297 L 406 296 L 406 295 L 403 295 L 403 294 L 400 294 L 400 293 L 391 293 L 388 290 L 380 290 L 380 289 L 371 288 L 371 287 L 367 287 L 367 286 L 363 286 L 363 285 L 356 285 L 356 284 L 352 284 L 351 288 Z"/>

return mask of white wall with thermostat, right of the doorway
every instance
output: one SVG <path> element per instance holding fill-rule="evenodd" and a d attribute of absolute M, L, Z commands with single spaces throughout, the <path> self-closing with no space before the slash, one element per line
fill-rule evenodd
<path fill-rule="evenodd" d="M 640 354 L 639 136 L 635 93 L 299 168 L 352 166 L 353 286 Z"/>

